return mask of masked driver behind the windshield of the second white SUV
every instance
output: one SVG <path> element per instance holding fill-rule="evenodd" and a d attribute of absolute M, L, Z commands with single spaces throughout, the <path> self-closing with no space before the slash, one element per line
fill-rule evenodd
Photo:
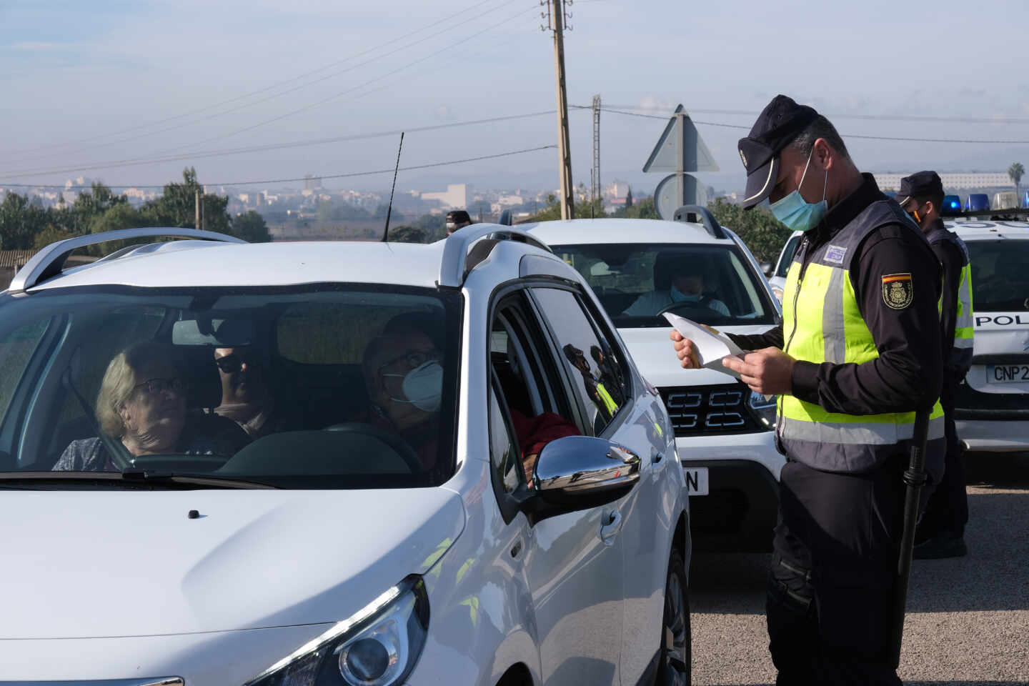
<path fill-rule="evenodd" d="M 705 283 L 705 269 L 704 258 L 700 255 L 659 255 L 653 265 L 654 290 L 640 295 L 622 314 L 629 317 L 653 317 L 669 305 L 681 302 L 708 308 L 729 317 L 725 303 L 706 292 L 709 285 Z"/>

